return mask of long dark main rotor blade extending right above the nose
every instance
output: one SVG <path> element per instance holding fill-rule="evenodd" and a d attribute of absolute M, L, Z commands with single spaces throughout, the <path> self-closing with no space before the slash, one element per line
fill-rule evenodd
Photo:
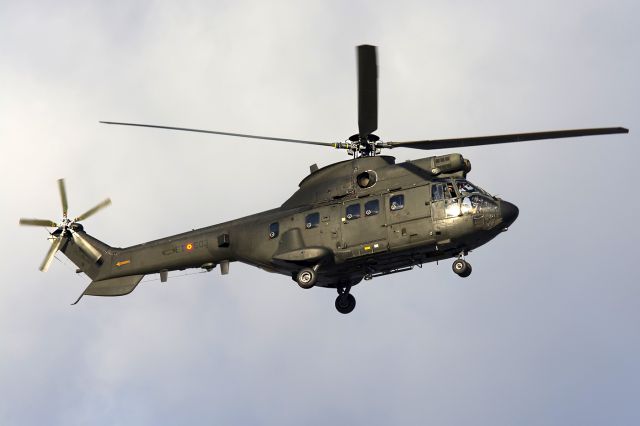
<path fill-rule="evenodd" d="M 477 136 L 471 138 L 436 139 L 425 141 L 386 142 L 386 148 L 448 149 L 464 146 L 494 145 L 509 142 L 525 142 L 541 139 L 574 138 L 578 136 L 629 133 L 624 127 L 598 129 L 554 130 L 550 132 L 514 133 L 510 135 Z"/>

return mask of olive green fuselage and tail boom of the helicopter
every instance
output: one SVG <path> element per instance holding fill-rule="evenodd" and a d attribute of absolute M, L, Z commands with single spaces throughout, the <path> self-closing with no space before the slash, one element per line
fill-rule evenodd
<path fill-rule="evenodd" d="M 465 253 L 515 220 L 503 217 L 506 202 L 467 183 L 469 169 L 459 154 L 362 157 L 313 171 L 273 210 L 128 248 L 84 234 L 103 252 L 99 264 L 72 241 L 63 251 L 96 281 L 240 261 L 288 276 L 315 267 L 317 285 L 345 287 Z"/>

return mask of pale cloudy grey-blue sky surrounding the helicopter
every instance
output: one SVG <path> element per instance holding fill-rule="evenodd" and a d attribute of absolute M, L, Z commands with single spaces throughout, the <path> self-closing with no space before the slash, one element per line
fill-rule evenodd
<path fill-rule="evenodd" d="M 0 0 L 0 424 L 640 423 L 634 1 Z M 379 47 L 383 140 L 625 126 L 458 149 L 520 208 L 468 256 L 335 291 L 234 263 L 86 297 L 42 229 L 128 246 L 280 205 L 356 132 L 355 49 Z M 446 151 L 438 151 L 436 154 Z M 419 158 L 394 150 L 398 161 Z M 424 156 L 431 155 L 430 153 Z M 197 272 L 197 271 L 192 271 Z"/>

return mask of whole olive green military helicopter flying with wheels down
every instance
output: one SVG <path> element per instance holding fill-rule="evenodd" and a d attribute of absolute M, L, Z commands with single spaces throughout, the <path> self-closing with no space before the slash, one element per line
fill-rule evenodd
<path fill-rule="evenodd" d="M 311 166 L 299 189 L 280 207 L 202 229 L 127 248 L 111 247 L 84 231 L 81 221 L 108 206 L 106 199 L 71 219 L 63 179 L 58 181 L 62 221 L 20 219 L 21 225 L 54 228 L 42 265 L 58 251 L 91 278 L 80 295 L 131 293 L 145 275 L 187 268 L 229 273 L 244 262 L 290 276 L 304 289 L 337 289 L 335 307 L 347 314 L 356 300 L 351 289 L 363 279 L 404 272 L 453 258 L 453 272 L 471 274 L 468 253 L 486 244 L 518 217 L 518 208 L 471 183 L 471 163 L 461 154 L 396 164 L 383 149 L 449 149 L 540 139 L 628 133 L 622 127 L 559 130 L 496 136 L 383 141 L 378 128 L 378 64 L 375 46 L 357 47 L 358 133 L 342 142 L 318 142 L 150 124 L 103 121 L 216 135 L 266 139 L 343 149 L 352 158 Z"/>

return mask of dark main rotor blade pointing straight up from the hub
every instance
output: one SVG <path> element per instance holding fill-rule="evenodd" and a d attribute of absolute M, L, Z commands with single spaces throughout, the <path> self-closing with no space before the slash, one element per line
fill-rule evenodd
<path fill-rule="evenodd" d="M 361 140 L 378 128 L 378 60 L 376 47 L 357 47 L 358 132 Z"/>

